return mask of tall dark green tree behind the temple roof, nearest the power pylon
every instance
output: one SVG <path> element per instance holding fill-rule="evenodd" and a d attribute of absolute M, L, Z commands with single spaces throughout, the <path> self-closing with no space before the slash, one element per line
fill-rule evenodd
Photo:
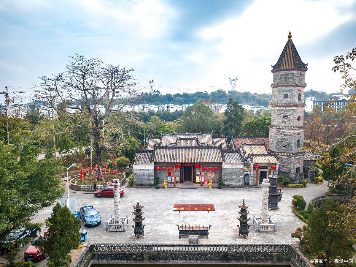
<path fill-rule="evenodd" d="M 229 98 L 224 115 L 224 134 L 231 137 L 241 133 L 245 109 L 239 104 L 239 101 L 232 101 L 232 98 Z"/>

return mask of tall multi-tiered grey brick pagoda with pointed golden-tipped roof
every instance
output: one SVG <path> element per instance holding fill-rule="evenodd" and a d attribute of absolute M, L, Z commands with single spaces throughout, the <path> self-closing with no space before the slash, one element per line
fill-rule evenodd
<path fill-rule="evenodd" d="M 269 150 L 278 157 L 278 174 L 299 183 L 303 175 L 304 88 L 308 64 L 303 63 L 288 34 L 277 63 L 272 66 L 273 83 Z"/>

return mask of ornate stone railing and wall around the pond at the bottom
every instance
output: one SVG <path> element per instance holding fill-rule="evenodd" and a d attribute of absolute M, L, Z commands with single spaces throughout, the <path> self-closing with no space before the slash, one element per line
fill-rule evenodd
<path fill-rule="evenodd" d="M 298 248 L 286 244 L 89 244 L 72 263 L 285 263 L 293 267 L 312 267 Z"/>

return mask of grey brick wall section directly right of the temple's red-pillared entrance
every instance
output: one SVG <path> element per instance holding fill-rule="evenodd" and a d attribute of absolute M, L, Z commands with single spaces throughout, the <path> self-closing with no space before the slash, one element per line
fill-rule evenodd
<path fill-rule="evenodd" d="M 244 165 L 243 164 L 225 164 L 223 163 L 223 186 L 225 187 L 243 187 L 244 186 Z"/>

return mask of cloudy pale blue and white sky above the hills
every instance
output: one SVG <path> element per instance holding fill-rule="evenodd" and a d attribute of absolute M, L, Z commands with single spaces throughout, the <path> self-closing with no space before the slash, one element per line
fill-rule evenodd
<path fill-rule="evenodd" d="M 0 0 L 0 91 L 30 90 L 81 54 L 162 93 L 228 91 L 236 77 L 237 91 L 272 93 L 289 29 L 306 89 L 340 91 L 331 68 L 356 47 L 356 0 Z"/>

